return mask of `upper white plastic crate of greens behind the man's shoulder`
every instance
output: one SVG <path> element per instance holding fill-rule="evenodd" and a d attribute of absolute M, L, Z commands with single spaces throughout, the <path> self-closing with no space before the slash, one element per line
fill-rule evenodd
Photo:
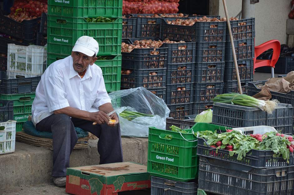
<path fill-rule="evenodd" d="M 8 44 L 7 71 L 42 75 L 47 67 L 47 50 L 44 46 Z"/>

